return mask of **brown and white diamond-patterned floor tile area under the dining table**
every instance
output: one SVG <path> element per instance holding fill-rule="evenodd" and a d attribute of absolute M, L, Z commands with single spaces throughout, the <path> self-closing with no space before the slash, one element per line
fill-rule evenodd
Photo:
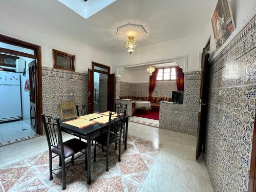
<path fill-rule="evenodd" d="M 92 184 L 87 185 L 84 164 L 69 169 L 66 183 L 71 191 L 101 191 L 106 188 L 115 191 L 139 191 L 159 154 L 161 144 L 129 136 L 127 150 L 123 150 L 121 162 L 113 161 L 109 172 L 105 172 L 105 157 L 96 158 L 92 163 Z M 116 153 L 114 145 L 110 153 Z M 99 150 L 97 153 L 101 153 Z M 79 159 L 78 159 L 79 161 Z M 81 157 L 80 161 L 84 161 Z M 79 163 L 79 162 L 77 162 Z M 58 158 L 53 159 L 53 168 L 58 167 Z M 55 171 L 56 173 L 56 171 Z M 57 175 L 61 175 L 59 171 Z M 1 189 L 2 188 L 2 189 Z M 3 191 L 61 191 L 61 177 L 53 175 L 49 181 L 49 152 L 32 155 L 23 160 L 0 168 L 0 190 Z"/>

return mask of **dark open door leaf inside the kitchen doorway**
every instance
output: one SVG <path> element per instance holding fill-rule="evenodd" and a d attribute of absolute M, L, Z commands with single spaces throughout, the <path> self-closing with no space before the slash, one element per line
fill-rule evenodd
<path fill-rule="evenodd" d="M 37 93 L 36 60 L 29 63 L 29 98 L 30 98 L 30 125 L 34 132 L 37 129 L 36 93 Z"/>

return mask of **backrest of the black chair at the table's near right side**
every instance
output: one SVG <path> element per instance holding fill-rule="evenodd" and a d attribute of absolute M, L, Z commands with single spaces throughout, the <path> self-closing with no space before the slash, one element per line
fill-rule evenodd
<path fill-rule="evenodd" d="M 109 116 L 109 129 L 108 129 L 108 138 L 107 144 L 109 145 L 109 141 L 116 136 L 122 135 L 124 119 L 126 116 L 126 109 L 124 109 L 123 113 L 117 112 L 117 118 L 112 119 L 112 112 L 110 112 Z"/>

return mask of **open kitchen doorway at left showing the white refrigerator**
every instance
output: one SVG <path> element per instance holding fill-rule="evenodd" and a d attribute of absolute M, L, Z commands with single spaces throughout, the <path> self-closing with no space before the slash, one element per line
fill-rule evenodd
<path fill-rule="evenodd" d="M 39 46 L 0 35 L 0 145 L 41 133 Z M 39 100 L 40 99 L 40 100 Z"/>

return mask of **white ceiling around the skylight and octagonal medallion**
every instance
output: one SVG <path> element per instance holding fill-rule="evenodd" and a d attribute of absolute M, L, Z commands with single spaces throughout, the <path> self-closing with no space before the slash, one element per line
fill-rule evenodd
<path fill-rule="evenodd" d="M 137 48 L 148 46 L 202 33 L 215 4 L 213 0 L 117 0 L 87 19 L 57 0 L 2 0 L 0 7 L 14 14 L 21 9 L 26 12 L 18 16 L 23 22 L 50 26 L 91 47 L 116 53 L 126 50 L 125 42 L 116 35 L 118 26 L 143 25 L 147 34 Z"/>

